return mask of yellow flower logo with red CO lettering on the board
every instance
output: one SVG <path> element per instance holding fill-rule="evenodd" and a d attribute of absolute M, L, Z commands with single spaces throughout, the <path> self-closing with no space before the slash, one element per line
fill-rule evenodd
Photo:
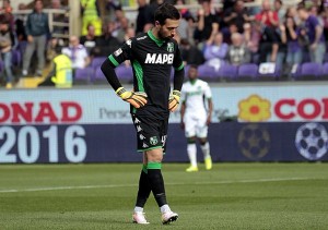
<path fill-rule="evenodd" d="M 283 121 L 328 120 L 328 98 L 282 98 L 270 101 L 258 95 L 250 95 L 238 102 L 238 118 L 243 121 L 267 121 L 274 114 Z"/>

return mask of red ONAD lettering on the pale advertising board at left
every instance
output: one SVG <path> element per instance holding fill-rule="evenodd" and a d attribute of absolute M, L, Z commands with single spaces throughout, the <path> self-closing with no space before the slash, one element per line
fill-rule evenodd
<path fill-rule="evenodd" d="M 74 101 L 0 102 L 1 123 L 74 123 L 82 118 L 82 107 Z"/>

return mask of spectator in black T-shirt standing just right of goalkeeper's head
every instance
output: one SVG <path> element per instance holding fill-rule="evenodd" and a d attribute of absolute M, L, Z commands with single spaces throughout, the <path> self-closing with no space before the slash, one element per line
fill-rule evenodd
<path fill-rule="evenodd" d="M 210 0 L 201 2 L 201 9 L 198 11 L 198 27 L 195 32 L 195 40 L 200 43 L 200 48 L 219 32 L 220 17 L 213 10 Z"/>

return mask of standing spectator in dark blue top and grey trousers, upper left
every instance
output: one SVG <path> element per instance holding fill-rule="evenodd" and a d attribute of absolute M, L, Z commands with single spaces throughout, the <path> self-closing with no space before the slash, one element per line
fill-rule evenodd
<path fill-rule="evenodd" d="M 27 15 L 26 20 L 27 46 L 23 58 L 23 76 L 28 73 L 31 58 L 36 50 L 37 70 L 36 75 L 42 76 L 45 66 L 45 49 L 47 38 L 50 35 L 48 15 L 43 12 L 43 1 L 34 1 L 34 11 Z"/>

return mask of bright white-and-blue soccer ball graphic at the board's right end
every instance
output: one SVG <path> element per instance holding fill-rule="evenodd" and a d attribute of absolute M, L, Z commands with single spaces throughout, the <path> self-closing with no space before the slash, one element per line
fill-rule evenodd
<path fill-rule="evenodd" d="M 317 160 L 327 153 L 328 134 L 319 123 L 306 123 L 297 129 L 295 145 L 298 153 L 309 160 Z"/>

